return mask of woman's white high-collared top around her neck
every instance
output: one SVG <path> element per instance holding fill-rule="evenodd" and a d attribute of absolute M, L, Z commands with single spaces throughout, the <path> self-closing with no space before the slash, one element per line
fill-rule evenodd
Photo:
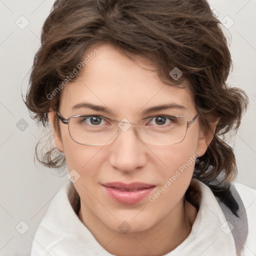
<path fill-rule="evenodd" d="M 201 191 L 199 209 L 187 238 L 166 256 L 235 256 L 233 235 L 210 188 L 195 180 Z M 30 256 L 112 255 L 97 242 L 74 212 L 68 181 L 54 196 L 35 233 Z M 242 256 L 256 255 L 256 190 L 235 184 L 248 219 L 248 236 Z"/>

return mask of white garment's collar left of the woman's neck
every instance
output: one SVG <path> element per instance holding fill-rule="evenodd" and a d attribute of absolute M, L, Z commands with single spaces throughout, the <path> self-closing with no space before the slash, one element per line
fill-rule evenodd
<path fill-rule="evenodd" d="M 73 188 L 68 181 L 53 197 L 33 237 L 30 256 L 110 255 L 77 216 L 79 201 Z"/>

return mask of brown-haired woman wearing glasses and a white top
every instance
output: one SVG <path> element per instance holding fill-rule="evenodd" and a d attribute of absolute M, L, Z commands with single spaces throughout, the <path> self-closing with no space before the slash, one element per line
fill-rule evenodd
<path fill-rule="evenodd" d="M 205 0 L 56 0 L 26 105 L 65 164 L 31 255 L 253 255 L 255 191 L 233 185 L 247 96 Z"/>

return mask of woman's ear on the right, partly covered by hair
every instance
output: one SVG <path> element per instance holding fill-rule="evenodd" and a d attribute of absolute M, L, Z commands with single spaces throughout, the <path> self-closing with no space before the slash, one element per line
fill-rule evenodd
<path fill-rule="evenodd" d="M 202 156 L 206 152 L 207 147 L 210 144 L 213 138 L 213 135 L 215 133 L 216 125 L 217 125 L 217 121 L 214 123 L 211 123 L 210 130 L 208 130 L 207 132 L 203 132 L 202 129 L 200 128 L 199 138 L 197 141 L 197 148 L 196 148 L 196 153 L 198 152 L 198 155 L 197 155 L 198 157 Z"/>

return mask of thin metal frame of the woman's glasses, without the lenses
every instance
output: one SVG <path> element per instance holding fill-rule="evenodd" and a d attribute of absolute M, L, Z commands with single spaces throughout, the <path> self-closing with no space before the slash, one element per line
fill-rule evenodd
<path fill-rule="evenodd" d="M 68 118 L 65 118 L 65 117 L 63 117 L 63 116 L 59 113 L 59 111 L 58 111 L 57 109 L 54 109 L 54 111 L 57 113 L 58 118 L 61 120 L 61 122 L 62 122 L 63 124 L 66 124 L 66 125 L 67 125 L 67 129 L 68 129 L 69 136 L 71 137 L 71 139 L 72 139 L 74 142 L 76 142 L 77 144 L 80 144 L 80 145 L 96 146 L 96 145 L 92 145 L 92 144 L 85 144 L 85 143 L 78 142 L 78 141 L 75 140 L 75 139 L 71 136 L 71 134 L 70 134 L 70 130 L 69 130 L 69 120 L 70 120 L 71 118 L 82 117 L 82 116 L 86 116 L 86 115 L 84 115 L 84 114 L 82 114 L 82 115 L 72 115 L 72 116 L 69 116 Z M 185 131 L 184 137 L 183 137 L 180 141 L 175 142 L 175 143 L 171 143 L 171 144 L 166 144 L 166 145 L 173 145 L 173 144 L 177 144 L 177 143 L 180 143 L 181 141 L 183 141 L 184 138 L 185 138 L 185 136 L 186 136 L 186 132 L 187 132 L 187 128 L 188 128 L 189 124 L 192 124 L 192 123 L 195 121 L 197 115 L 198 115 L 198 114 L 196 114 L 190 121 L 186 120 L 186 119 L 184 118 L 184 116 L 172 115 L 173 117 L 181 117 L 181 118 L 184 118 L 184 119 L 185 119 L 185 121 L 186 121 L 186 131 Z M 91 116 L 94 116 L 94 115 L 91 115 Z M 99 116 L 99 115 L 95 115 L 95 116 Z M 157 115 L 156 115 L 156 116 L 157 116 Z M 161 115 L 159 115 L 159 116 L 161 116 Z M 164 115 L 162 115 L 162 116 L 164 116 Z M 131 125 L 132 125 L 132 124 L 137 124 L 137 123 L 140 122 L 141 120 L 147 119 L 147 118 L 149 118 L 149 117 L 145 117 L 145 118 L 140 119 L 139 121 L 129 122 L 129 123 L 130 123 Z M 109 118 L 109 119 L 111 119 L 111 120 L 113 120 L 113 121 L 116 121 L 116 122 L 123 122 L 123 121 L 121 121 L 121 120 L 119 121 L 119 120 L 115 120 L 115 119 L 112 119 L 112 118 Z M 114 136 L 117 137 L 119 131 L 120 131 L 120 127 L 118 126 L 118 129 L 117 129 L 116 133 L 114 134 Z M 113 137 L 114 137 L 114 136 L 113 136 Z M 113 138 L 113 137 L 112 137 L 112 138 Z M 116 139 L 116 137 L 113 139 L 113 141 Z M 138 136 L 137 136 L 137 137 L 138 137 Z M 112 138 L 111 138 L 111 139 L 112 139 Z M 109 139 L 108 141 L 110 141 L 111 139 Z M 141 138 L 139 138 L 139 139 L 142 140 Z M 112 141 L 112 142 L 113 142 L 113 141 Z M 142 140 L 142 141 L 143 141 L 143 140 Z M 105 144 L 100 144 L 100 145 L 108 145 L 108 144 L 111 144 L 112 142 L 109 142 L 109 143 L 107 142 L 107 143 L 105 143 Z M 143 142 L 145 142 L 145 141 L 143 141 Z M 147 142 L 145 142 L 145 143 L 147 143 Z"/>

